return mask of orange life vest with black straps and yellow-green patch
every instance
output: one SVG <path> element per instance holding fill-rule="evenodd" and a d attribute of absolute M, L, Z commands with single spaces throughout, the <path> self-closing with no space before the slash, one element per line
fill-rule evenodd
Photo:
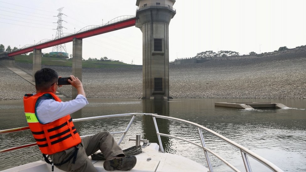
<path fill-rule="evenodd" d="M 61 99 L 52 92 L 38 93 L 35 95 L 26 94 L 24 96 L 25 116 L 40 151 L 43 154 L 50 155 L 81 143 L 81 138 L 69 114 L 47 124 L 39 122 L 36 115 L 36 106 L 38 98 L 43 95 L 61 102 Z"/>

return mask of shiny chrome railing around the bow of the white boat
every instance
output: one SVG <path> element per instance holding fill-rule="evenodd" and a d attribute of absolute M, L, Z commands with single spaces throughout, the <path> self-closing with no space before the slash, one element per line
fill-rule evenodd
<path fill-rule="evenodd" d="M 77 119 L 73 119 L 73 122 L 87 121 L 87 120 L 97 120 L 97 119 L 112 118 L 112 117 L 127 117 L 127 116 L 132 116 L 127 128 L 124 131 L 111 132 L 111 134 L 123 134 L 122 137 L 120 138 L 118 144 L 120 144 L 122 142 L 122 140 L 124 139 L 126 133 L 129 131 L 129 128 L 131 127 L 131 125 L 132 125 L 133 121 L 135 120 L 136 116 L 152 116 L 161 152 L 164 152 L 162 142 L 161 142 L 161 136 L 169 137 L 169 138 L 175 138 L 175 139 L 185 141 L 187 143 L 191 143 L 191 144 L 193 144 L 195 146 L 198 146 L 199 148 L 203 149 L 204 154 L 205 154 L 205 158 L 206 158 L 206 162 L 207 162 L 207 165 L 208 165 L 208 168 L 209 168 L 210 172 L 213 172 L 214 170 L 213 170 L 212 164 L 210 162 L 208 153 L 210 153 L 210 154 L 214 155 L 216 158 L 220 159 L 224 164 L 226 164 L 229 168 L 233 169 L 234 171 L 240 171 L 235 166 L 230 164 L 228 161 L 223 159 L 221 156 L 216 154 L 214 151 L 212 151 L 212 150 L 210 150 L 206 147 L 205 141 L 204 141 L 204 138 L 203 138 L 203 130 L 205 130 L 206 132 L 212 134 L 213 136 L 223 140 L 224 142 L 226 142 L 226 143 L 230 144 L 231 146 L 240 150 L 246 172 L 251 172 L 252 171 L 250 162 L 248 160 L 248 156 L 257 160 L 258 162 L 265 165 L 266 167 L 268 167 L 272 171 L 275 171 L 275 172 L 282 172 L 283 171 L 282 169 L 277 167 L 275 164 L 273 164 L 270 161 L 264 159 L 263 157 L 255 154 L 254 152 L 252 152 L 249 149 L 241 146 L 240 144 L 238 144 L 238 143 L 236 143 L 236 142 L 234 142 L 234 141 L 232 141 L 232 140 L 230 140 L 230 139 L 228 139 L 228 138 L 226 138 L 226 137 L 224 137 L 224 136 L 222 136 L 222 135 L 220 135 L 220 134 L 218 134 L 218 133 L 216 133 L 216 132 L 214 132 L 214 131 L 206 128 L 206 127 L 203 127 L 203 126 L 201 126 L 197 123 L 186 121 L 186 120 L 179 119 L 179 118 L 161 116 L 161 115 L 152 114 L 152 113 L 124 113 L 124 114 L 104 115 L 104 116 L 97 116 L 97 117 L 77 118 Z M 177 122 L 184 122 L 184 123 L 187 123 L 187 124 L 190 124 L 190 125 L 196 127 L 198 129 L 198 134 L 199 134 L 199 137 L 201 139 L 202 144 L 195 143 L 195 142 L 187 140 L 185 138 L 181 138 L 181 137 L 177 137 L 177 136 L 173 136 L 173 135 L 169 135 L 169 134 L 165 134 L 165 133 L 160 133 L 159 129 L 158 129 L 158 126 L 157 126 L 156 118 L 161 118 L 161 119 L 166 119 L 166 120 L 171 120 L 171 121 L 177 121 Z M 20 128 L 0 130 L 0 134 L 19 132 L 19 131 L 24 131 L 24 130 L 28 130 L 28 129 L 29 129 L 29 127 L 20 127 Z M 85 137 L 85 136 L 82 136 L 82 137 Z M 34 145 L 36 145 L 36 143 L 30 143 L 30 144 L 26 144 L 26 145 L 14 147 L 14 148 L 3 149 L 3 150 L 0 150 L 0 154 L 4 153 L 4 152 L 9 152 L 9 151 L 12 151 L 12 150 L 16 150 L 16 149 L 21 149 L 21 148 L 34 146 Z"/>

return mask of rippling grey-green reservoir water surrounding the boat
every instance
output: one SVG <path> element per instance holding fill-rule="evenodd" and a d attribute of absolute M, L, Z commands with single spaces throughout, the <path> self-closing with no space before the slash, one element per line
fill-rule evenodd
<path fill-rule="evenodd" d="M 69 100 L 69 99 L 64 99 Z M 196 122 L 204 127 L 249 148 L 268 159 L 284 171 L 306 171 L 306 99 L 88 99 L 89 105 L 72 114 L 72 118 L 92 117 L 119 113 L 158 113 Z M 214 107 L 214 102 L 277 102 L 289 109 L 241 110 Z M 0 101 L 0 130 L 27 126 L 22 100 Z M 81 135 L 100 130 L 124 130 L 130 118 L 107 118 L 75 122 Z M 123 142 L 141 133 L 142 138 L 157 142 L 151 117 L 137 117 Z M 159 131 L 174 134 L 200 143 L 197 130 L 173 121 L 158 120 Z M 240 152 L 210 134 L 203 132 L 206 146 L 224 159 L 245 171 Z M 120 136 L 114 136 L 118 141 Z M 206 165 L 203 151 L 190 143 L 162 138 L 166 152 L 179 154 Z M 33 143 L 29 131 L 0 135 L 0 150 L 26 143 Z M 218 159 L 210 156 L 215 171 L 231 171 Z M 42 159 L 36 146 L 0 154 L 0 170 Z M 269 171 L 265 166 L 249 158 L 253 171 Z"/>

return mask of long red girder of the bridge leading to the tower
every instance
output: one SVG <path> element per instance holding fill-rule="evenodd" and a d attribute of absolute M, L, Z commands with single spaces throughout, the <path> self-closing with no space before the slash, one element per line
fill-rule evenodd
<path fill-rule="evenodd" d="M 119 29 L 124 29 L 124 28 L 128 28 L 131 26 L 135 26 L 136 23 L 136 18 L 130 18 L 118 23 L 113 23 L 110 25 L 106 25 L 106 26 L 101 26 L 95 29 L 91 29 L 91 30 L 87 30 L 85 32 L 79 33 L 79 34 L 73 34 L 67 37 L 63 37 L 61 39 L 56 39 L 56 40 L 52 40 L 43 44 L 39 44 L 39 45 L 34 45 L 32 47 L 28 47 L 22 50 L 17 50 L 11 53 L 8 53 L 9 57 L 15 56 L 15 55 L 21 55 L 21 54 L 25 54 L 25 53 L 29 53 L 29 52 L 33 52 L 33 49 L 44 49 L 44 48 L 49 48 L 49 47 L 53 47 L 55 45 L 60 45 L 60 44 L 65 44 L 67 42 L 71 42 L 73 40 L 73 38 L 77 38 L 77 39 L 83 39 L 83 38 L 88 38 L 94 35 L 99 35 L 99 34 L 104 34 L 107 32 L 111 32 L 114 30 L 119 30 Z"/>

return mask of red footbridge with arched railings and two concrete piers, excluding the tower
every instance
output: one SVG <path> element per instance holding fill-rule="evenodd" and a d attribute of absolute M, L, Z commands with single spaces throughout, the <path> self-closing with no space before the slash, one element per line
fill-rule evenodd
<path fill-rule="evenodd" d="M 49 47 L 53 47 L 60 44 L 65 44 L 68 42 L 73 43 L 73 52 L 72 52 L 72 75 L 77 76 L 82 81 L 82 39 L 88 38 L 91 36 L 104 34 L 107 32 L 124 29 L 127 27 L 135 26 L 136 17 L 135 16 L 119 16 L 110 20 L 108 23 L 103 25 L 90 25 L 82 28 L 76 33 L 73 34 L 64 34 L 60 38 L 56 39 L 43 39 L 37 44 L 27 44 L 21 49 L 10 52 L 7 54 L 8 58 L 13 60 L 14 56 L 21 55 L 29 52 L 33 52 L 33 75 L 32 81 L 35 81 L 34 74 L 37 70 L 41 69 L 41 50 Z M 11 58 L 10 58 L 11 57 Z M 5 58 L 3 58 L 5 59 Z M 72 89 L 72 97 L 77 96 L 77 90 Z"/>

